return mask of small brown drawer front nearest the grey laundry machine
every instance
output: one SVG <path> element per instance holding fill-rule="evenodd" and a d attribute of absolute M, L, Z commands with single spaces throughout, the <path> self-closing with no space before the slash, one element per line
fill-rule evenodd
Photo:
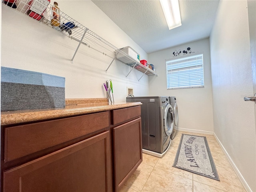
<path fill-rule="evenodd" d="M 118 124 L 126 120 L 140 116 L 140 106 L 117 109 L 113 111 L 113 124 Z"/>

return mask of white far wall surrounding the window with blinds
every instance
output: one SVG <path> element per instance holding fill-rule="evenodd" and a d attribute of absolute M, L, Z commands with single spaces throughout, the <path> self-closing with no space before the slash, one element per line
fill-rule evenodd
<path fill-rule="evenodd" d="M 204 58 L 204 88 L 186 88 L 167 90 L 166 59 L 173 58 L 175 50 L 203 52 Z M 178 57 L 177 57 L 178 58 Z M 175 46 L 148 55 L 148 63 L 154 64 L 158 76 L 149 77 L 149 94 L 162 96 L 176 96 L 179 114 L 179 128 L 190 131 L 213 132 L 212 116 L 212 82 L 210 69 L 209 38 Z"/>

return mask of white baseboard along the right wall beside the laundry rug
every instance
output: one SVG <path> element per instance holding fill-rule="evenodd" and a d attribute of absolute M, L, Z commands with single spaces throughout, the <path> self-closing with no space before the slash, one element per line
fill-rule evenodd
<path fill-rule="evenodd" d="M 248 186 L 248 184 L 246 183 L 246 181 L 244 180 L 244 177 L 242 176 L 242 174 L 239 172 L 238 168 L 236 167 L 236 165 L 234 164 L 234 162 L 232 161 L 232 159 L 230 158 L 230 156 L 228 155 L 228 152 L 225 150 L 224 146 L 221 144 L 220 140 L 218 139 L 218 137 L 216 136 L 216 134 L 214 133 L 213 136 L 215 137 L 215 139 L 217 140 L 218 144 L 220 145 L 220 147 L 222 148 L 222 151 L 224 152 L 224 154 L 226 155 L 226 158 L 228 159 L 228 161 L 230 162 L 230 165 L 232 166 L 232 168 L 234 169 L 236 175 L 238 176 L 238 179 L 241 181 L 242 185 L 244 186 L 246 192 L 252 192 L 252 190 L 250 189 L 250 187 Z"/>

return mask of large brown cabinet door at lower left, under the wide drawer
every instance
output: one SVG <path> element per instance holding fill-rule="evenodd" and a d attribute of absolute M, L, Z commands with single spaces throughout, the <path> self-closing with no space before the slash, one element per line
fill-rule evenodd
<path fill-rule="evenodd" d="M 4 192 L 111 192 L 109 131 L 4 172 Z"/>

